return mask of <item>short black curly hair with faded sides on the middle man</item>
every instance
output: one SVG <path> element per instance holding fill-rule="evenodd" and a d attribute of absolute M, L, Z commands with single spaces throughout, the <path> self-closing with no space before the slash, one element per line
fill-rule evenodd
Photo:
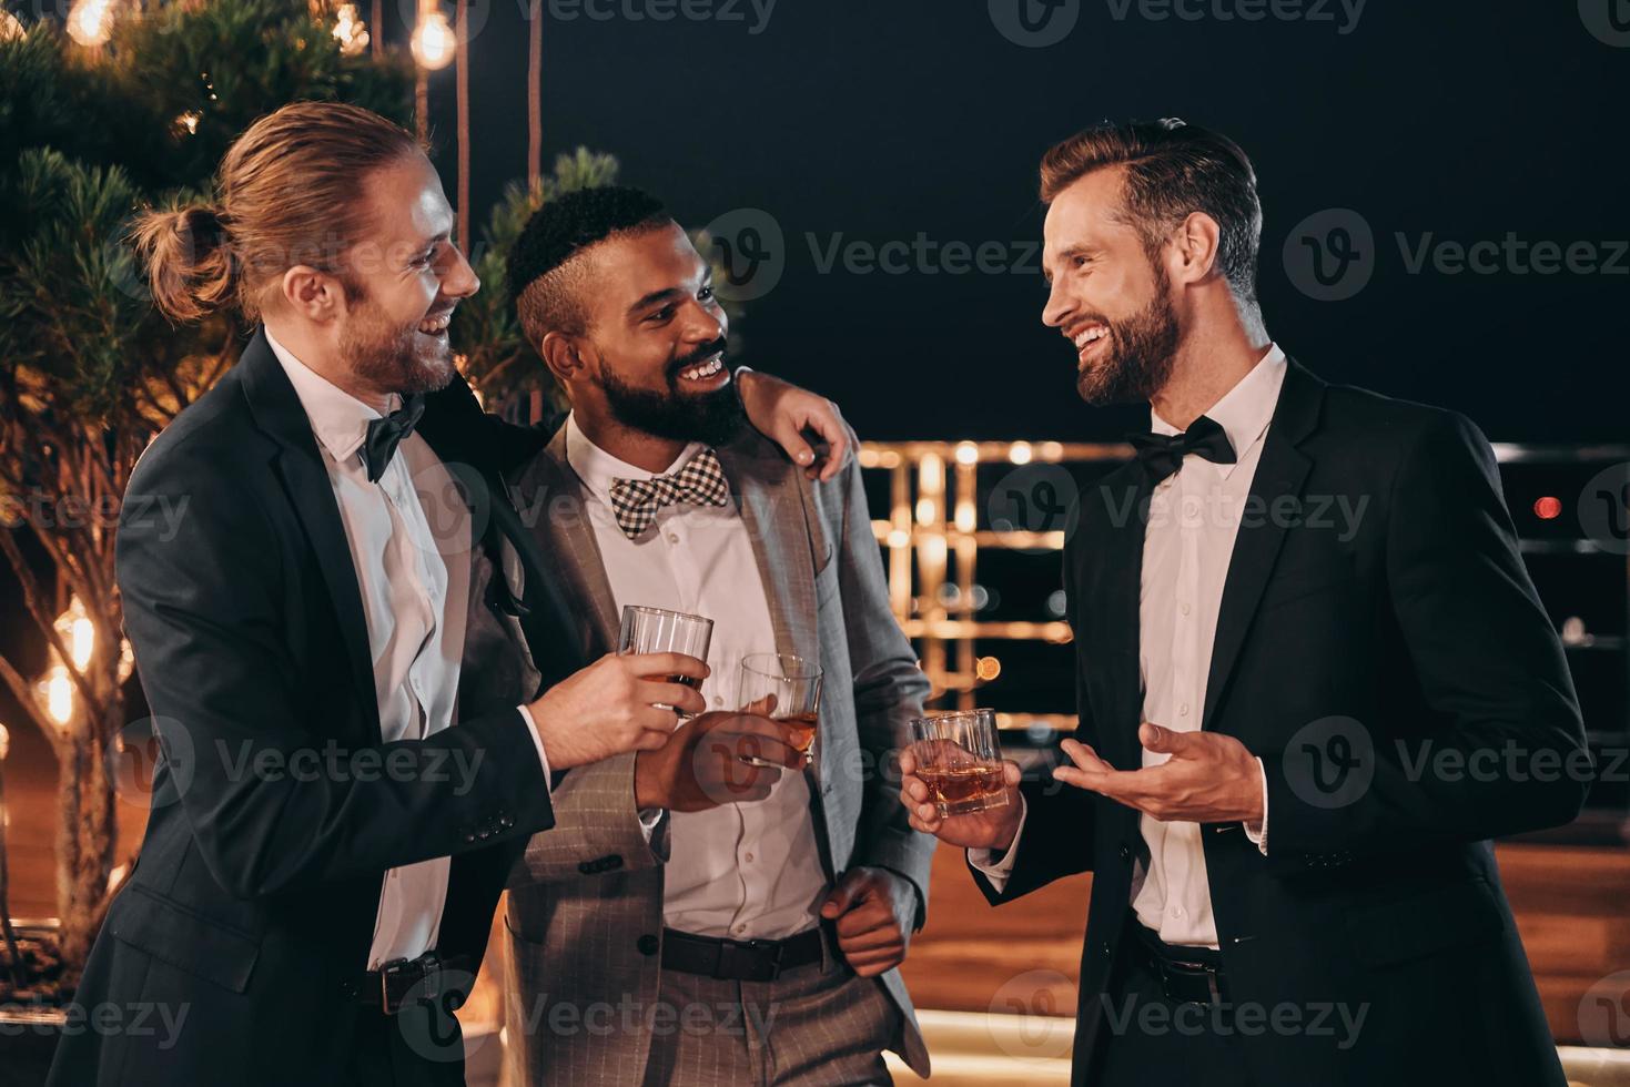
<path fill-rule="evenodd" d="M 598 186 L 559 196 L 526 220 L 509 254 L 510 300 L 526 339 L 548 332 L 582 336 L 587 315 L 577 287 L 584 264 L 574 257 L 608 238 L 673 223 L 662 200 L 631 186 Z"/>

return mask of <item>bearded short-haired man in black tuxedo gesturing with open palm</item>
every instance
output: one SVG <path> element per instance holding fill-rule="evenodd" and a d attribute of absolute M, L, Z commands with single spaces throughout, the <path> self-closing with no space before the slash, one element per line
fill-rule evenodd
<path fill-rule="evenodd" d="M 1092 872 L 1076 1084 L 1562 1087 L 1488 839 L 1589 756 L 1488 442 L 1268 337 L 1231 140 L 1089 129 L 1042 197 L 1043 321 L 1151 433 L 1066 544 L 1068 761 L 939 818 L 906 753 L 913 826 L 993 903 Z"/>

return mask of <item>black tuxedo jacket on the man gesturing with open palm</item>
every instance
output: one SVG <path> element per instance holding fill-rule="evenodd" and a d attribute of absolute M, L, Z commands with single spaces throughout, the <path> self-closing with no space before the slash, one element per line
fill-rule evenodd
<path fill-rule="evenodd" d="M 1064 554 L 1076 737 L 1120 769 L 1141 764 L 1149 491 L 1136 461 L 1086 487 Z M 1203 727 L 1263 759 L 1268 856 L 1239 823 L 1205 826 L 1203 849 L 1232 1001 L 1265 1023 L 1240 1030 L 1252 1082 L 1560 1087 L 1488 839 L 1575 818 L 1588 756 L 1488 442 L 1291 362 L 1250 492 Z M 1024 794 L 1012 878 L 975 877 L 996 903 L 1092 872 L 1086 1084 L 1126 1022 L 1100 994 L 1146 847 L 1131 808 L 1050 776 Z"/>

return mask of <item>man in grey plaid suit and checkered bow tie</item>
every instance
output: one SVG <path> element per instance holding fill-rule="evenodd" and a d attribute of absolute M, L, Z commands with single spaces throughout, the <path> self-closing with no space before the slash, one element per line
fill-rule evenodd
<path fill-rule="evenodd" d="M 626 605 L 709 616 L 717 711 L 556 787 L 510 883 L 512 1082 L 887 1084 L 883 1050 L 926 1076 L 896 966 L 934 843 L 885 772 L 927 681 L 888 610 L 854 442 L 805 473 L 740 427 L 711 269 L 642 192 L 548 204 L 509 275 L 572 401 L 512 482 L 582 644 L 615 650 Z M 813 766 L 707 742 L 755 652 L 822 665 Z"/>

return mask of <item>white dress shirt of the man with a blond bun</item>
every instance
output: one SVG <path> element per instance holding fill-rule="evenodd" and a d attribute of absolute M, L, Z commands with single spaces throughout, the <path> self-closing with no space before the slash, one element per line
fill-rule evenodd
<path fill-rule="evenodd" d="M 368 624 L 380 735 L 422 740 L 456 714 L 469 606 L 469 510 L 417 433 L 401 442 L 380 481 L 368 482 L 360 450 L 380 412 L 310 370 L 271 331 L 266 341 L 311 422 L 339 502 Z M 394 411 L 399 398 L 390 406 Z M 548 781 L 549 764 L 530 717 L 526 732 Z M 435 945 L 450 870 L 450 857 L 435 857 L 386 874 L 368 970 L 417 958 Z"/>

